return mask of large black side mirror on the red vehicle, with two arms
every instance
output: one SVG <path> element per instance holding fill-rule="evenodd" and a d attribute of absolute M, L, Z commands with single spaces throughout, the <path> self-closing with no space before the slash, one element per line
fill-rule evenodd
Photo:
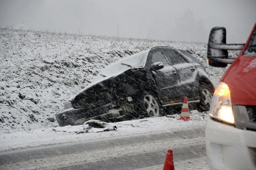
<path fill-rule="evenodd" d="M 226 28 L 212 28 L 207 49 L 207 63 L 213 67 L 226 67 L 235 58 L 228 58 L 227 50 L 242 50 L 244 44 L 226 44 Z"/>

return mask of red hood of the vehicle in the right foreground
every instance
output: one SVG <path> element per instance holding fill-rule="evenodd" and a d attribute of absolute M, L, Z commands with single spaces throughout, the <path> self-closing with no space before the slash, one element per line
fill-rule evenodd
<path fill-rule="evenodd" d="M 230 88 L 232 105 L 256 105 L 256 57 L 240 56 L 221 81 Z"/>

